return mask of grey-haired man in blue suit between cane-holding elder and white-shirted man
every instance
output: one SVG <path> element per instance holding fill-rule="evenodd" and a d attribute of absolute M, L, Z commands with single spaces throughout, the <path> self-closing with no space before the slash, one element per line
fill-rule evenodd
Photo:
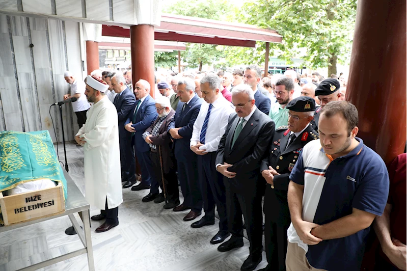
<path fill-rule="evenodd" d="M 173 210 L 191 211 L 184 221 L 191 221 L 201 215 L 202 197 L 198 183 L 197 155 L 189 148 L 195 120 L 201 109 L 202 100 L 195 94 L 195 82 L 183 77 L 178 82 L 179 103 L 168 132 L 174 140 L 174 154 L 177 159 L 179 182 L 184 202 Z"/>

